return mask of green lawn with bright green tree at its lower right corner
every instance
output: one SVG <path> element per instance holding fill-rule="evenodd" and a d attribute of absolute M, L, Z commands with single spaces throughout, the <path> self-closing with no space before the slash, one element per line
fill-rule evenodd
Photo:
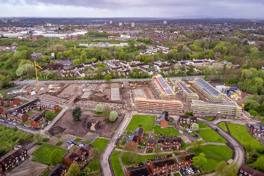
<path fill-rule="evenodd" d="M 50 165 L 50 153 L 54 149 L 59 149 L 61 155 L 66 152 L 66 150 L 63 150 L 62 148 L 57 148 L 51 145 L 44 144 L 32 153 L 32 155 L 36 156 L 36 158 L 34 158 L 32 161 L 37 161 L 39 163 Z"/>

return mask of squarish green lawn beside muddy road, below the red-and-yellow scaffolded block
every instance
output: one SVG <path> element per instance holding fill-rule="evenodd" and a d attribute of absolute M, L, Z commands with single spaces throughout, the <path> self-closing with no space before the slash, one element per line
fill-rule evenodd
<path fill-rule="evenodd" d="M 154 116 L 134 115 L 126 130 L 135 131 L 136 128 L 139 127 L 139 125 L 142 125 L 141 128 L 144 129 L 144 133 L 146 131 L 153 131 L 154 119 Z"/>

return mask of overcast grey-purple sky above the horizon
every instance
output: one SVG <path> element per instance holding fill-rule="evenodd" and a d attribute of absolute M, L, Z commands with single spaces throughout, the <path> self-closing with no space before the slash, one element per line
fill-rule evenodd
<path fill-rule="evenodd" d="M 264 18 L 264 0 L 0 0 L 0 17 Z"/>

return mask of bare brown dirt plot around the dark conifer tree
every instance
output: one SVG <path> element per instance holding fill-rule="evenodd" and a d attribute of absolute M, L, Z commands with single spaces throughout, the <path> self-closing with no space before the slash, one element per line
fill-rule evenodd
<path fill-rule="evenodd" d="M 74 121 L 72 118 L 72 110 L 67 111 L 59 121 L 55 124 L 53 128 L 51 128 L 50 133 L 65 133 L 71 134 L 74 136 L 84 136 L 87 132 L 94 132 L 90 130 L 92 123 L 96 123 L 95 129 L 96 133 L 101 133 L 101 137 L 111 138 L 112 133 L 120 123 L 122 119 L 122 114 L 118 114 L 118 118 L 114 123 L 106 122 L 102 116 L 95 115 L 91 111 L 82 111 L 81 121 Z"/>

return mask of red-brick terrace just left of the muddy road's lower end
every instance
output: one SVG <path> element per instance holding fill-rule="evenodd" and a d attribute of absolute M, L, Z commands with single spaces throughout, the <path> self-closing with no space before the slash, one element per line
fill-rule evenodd
<path fill-rule="evenodd" d="M 88 144 L 84 147 L 78 147 L 75 151 L 69 152 L 63 158 L 63 164 L 66 165 L 67 167 L 70 167 L 72 163 L 79 164 L 82 161 L 87 160 L 88 157 L 91 155 L 93 148 L 94 146 L 92 144 Z"/>

